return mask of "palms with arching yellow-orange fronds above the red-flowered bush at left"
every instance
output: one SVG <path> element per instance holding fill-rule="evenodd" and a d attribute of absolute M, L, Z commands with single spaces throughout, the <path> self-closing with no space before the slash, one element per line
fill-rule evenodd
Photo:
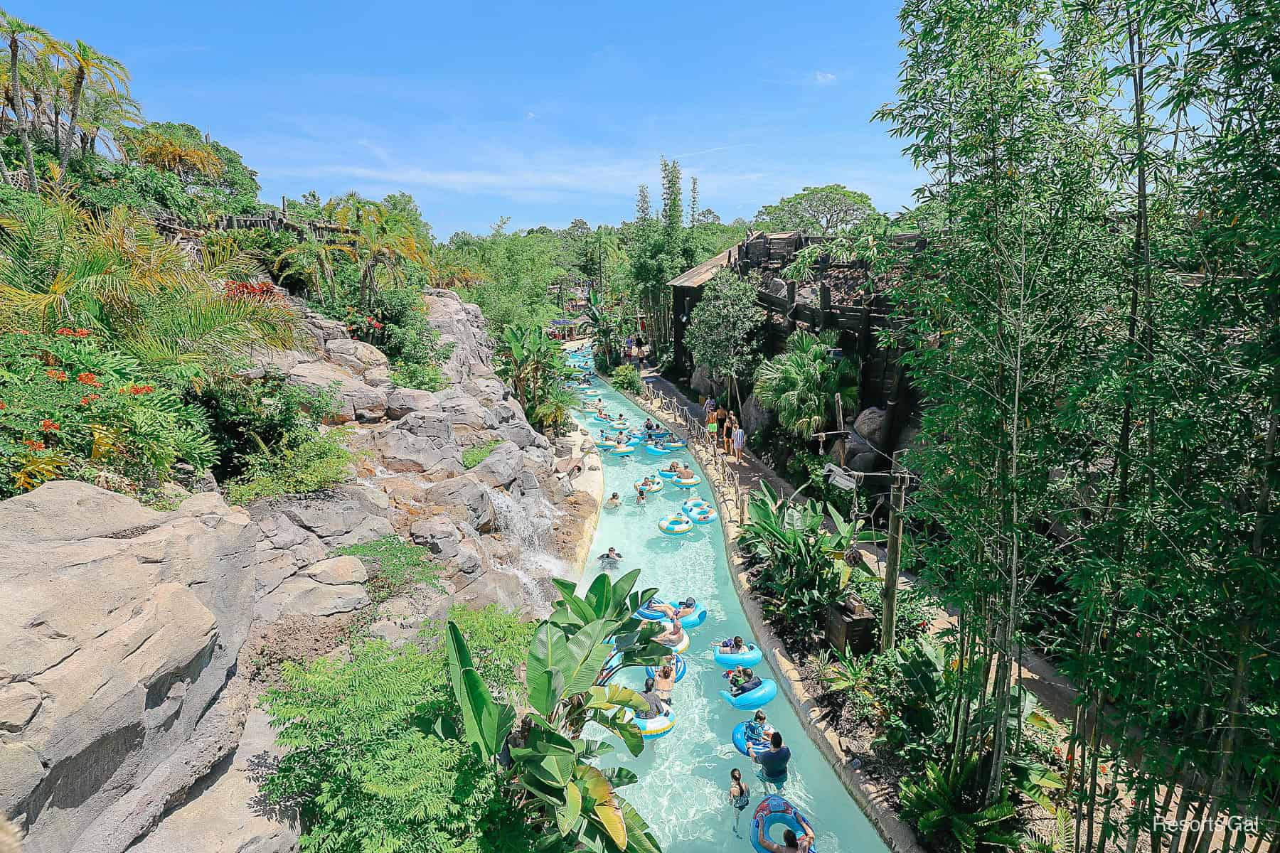
<path fill-rule="evenodd" d="M 0 217 L 0 325 L 95 329 L 140 359 L 205 373 L 300 339 L 287 302 L 224 288 L 260 272 L 244 253 L 206 249 L 196 265 L 136 211 L 91 214 L 73 189 Z"/>

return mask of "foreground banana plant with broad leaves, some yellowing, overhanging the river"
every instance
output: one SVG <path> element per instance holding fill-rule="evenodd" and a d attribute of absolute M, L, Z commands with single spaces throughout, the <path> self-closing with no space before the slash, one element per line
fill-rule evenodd
<path fill-rule="evenodd" d="M 563 839 L 590 850 L 660 853 L 644 818 L 617 792 L 637 781 L 636 775 L 591 765 L 613 747 L 582 737 L 586 724 L 595 723 L 632 756 L 644 749 L 640 729 L 626 711 L 644 711 L 649 703 L 630 688 L 598 683 L 609 659 L 657 664 L 671 651 L 652 642 L 657 625 L 641 627 L 635 618 L 657 592 L 632 592 L 639 574 L 616 582 L 602 574 L 584 596 L 572 583 L 557 582 L 562 600 L 538 627 L 525 662 L 527 708 L 494 700 L 462 632 L 448 624 L 449 680 L 463 734 L 483 757 L 504 767 L 521 795 L 540 811 L 548 845 Z"/>

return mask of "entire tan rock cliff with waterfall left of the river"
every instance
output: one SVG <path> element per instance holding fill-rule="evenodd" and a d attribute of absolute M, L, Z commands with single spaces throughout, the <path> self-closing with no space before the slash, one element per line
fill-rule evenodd
<path fill-rule="evenodd" d="M 337 389 L 362 454 L 344 485 L 168 513 L 70 481 L 0 503 L 0 816 L 27 853 L 296 850 L 293 818 L 256 797 L 274 738 L 251 661 L 329 652 L 369 607 L 366 567 L 337 547 L 399 533 L 444 568 L 378 607 L 393 642 L 454 602 L 547 611 L 568 573 L 552 551 L 581 538 L 556 528 L 591 499 L 556 508 L 556 450 L 494 375 L 479 309 L 425 302 L 453 344 L 442 391 L 396 387 L 383 353 L 305 309 L 314 348 L 250 373 Z"/>

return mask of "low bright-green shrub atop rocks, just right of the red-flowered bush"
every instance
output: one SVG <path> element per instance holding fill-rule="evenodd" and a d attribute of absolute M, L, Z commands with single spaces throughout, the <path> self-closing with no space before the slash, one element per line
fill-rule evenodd
<path fill-rule="evenodd" d="M 346 427 L 288 432 L 275 446 L 246 459 L 244 473 L 228 483 L 228 500 L 248 504 L 273 495 L 305 495 L 347 480 L 355 458 L 346 445 L 348 434 Z"/>

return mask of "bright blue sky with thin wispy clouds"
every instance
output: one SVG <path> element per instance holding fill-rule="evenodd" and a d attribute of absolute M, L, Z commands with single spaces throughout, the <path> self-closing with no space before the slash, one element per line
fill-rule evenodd
<path fill-rule="evenodd" d="M 438 237 L 630 219 L 658 157 L 726 221 L 804 185 L 919 183 L 870 121 L 896 4 L 9 0 L 123 60 L 152 120 L 238 150 L 262 197 L 407 191 Z"/>

